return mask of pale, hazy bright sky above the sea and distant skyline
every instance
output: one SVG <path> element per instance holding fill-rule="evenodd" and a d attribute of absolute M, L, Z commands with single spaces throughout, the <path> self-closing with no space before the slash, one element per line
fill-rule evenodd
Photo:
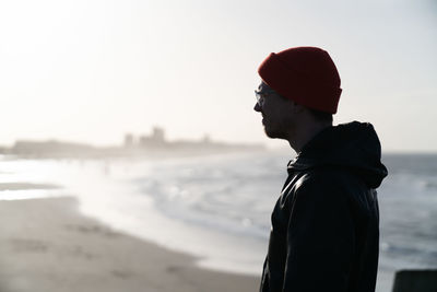
<path fill-rule="evenodd" d="M 262 142 L 259 63 L 326 49 L 343 93 L 334 124 L 371 122 L 387 152 L 437 152 L 437 1 L 0 1 L 0 144 Z"/>

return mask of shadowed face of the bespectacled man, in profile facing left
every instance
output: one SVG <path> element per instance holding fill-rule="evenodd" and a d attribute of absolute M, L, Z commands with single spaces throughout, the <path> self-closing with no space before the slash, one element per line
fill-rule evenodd
<path fill-rule="evenodd" d="M 261 113 L 265 135 L 270 138 L 288 139 L 294 127 L 293 102 L 273 91 L 264 82 L 258 86 L 259 100 L 253 109 Z"/>

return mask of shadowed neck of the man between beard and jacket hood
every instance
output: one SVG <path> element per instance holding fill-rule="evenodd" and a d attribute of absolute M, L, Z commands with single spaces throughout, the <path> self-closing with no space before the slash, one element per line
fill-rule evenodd
<path fill-rule="evenodd" d="M 297 154 L 300 153 L 302 149 L 320 131 L 331 127 L 332 122 L 308 122 L 303 124 L 300 127 L 295 129 L 294 133 L 288 136 L 288 143 L 296 151 Z"/>

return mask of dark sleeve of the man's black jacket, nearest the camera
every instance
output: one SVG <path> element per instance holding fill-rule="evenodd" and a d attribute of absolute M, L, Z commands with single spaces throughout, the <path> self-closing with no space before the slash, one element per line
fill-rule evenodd
<path fill-rule="evenodd" d="M 283 292 L 347 290 L 354 224 L 344 186 L 327 177 L 310 176 L 290 197 Z"/>

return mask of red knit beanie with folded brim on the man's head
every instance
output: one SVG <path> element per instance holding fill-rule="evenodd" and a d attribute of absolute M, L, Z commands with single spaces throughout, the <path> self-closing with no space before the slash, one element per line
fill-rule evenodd
<path fill-rule="evenodd" d="M 258 73 L 279 94 L 312 109 L 336 113 L 340 75 L 329 54 L 316 47 L 270 54 Z"/>

